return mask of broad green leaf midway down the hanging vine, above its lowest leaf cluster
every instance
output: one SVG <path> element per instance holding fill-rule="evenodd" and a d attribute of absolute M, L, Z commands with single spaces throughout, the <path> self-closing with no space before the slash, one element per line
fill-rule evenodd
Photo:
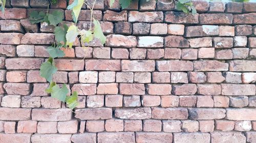
<path fill-rule="evenodd" d="M 52 81 L 52 75 L 57 71 L 57 68 L 52 65 L 53 59 L 49 58 L 47 62 L 42 63 L 40 67 L 40 76 L 46 78 L 47 81 Z"/>

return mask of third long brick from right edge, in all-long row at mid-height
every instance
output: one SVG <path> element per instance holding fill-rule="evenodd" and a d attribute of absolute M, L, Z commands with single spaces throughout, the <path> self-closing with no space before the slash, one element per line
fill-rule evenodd
<path fill-rule="evenodd" d="M 156 61 L 156 69 L 158 71 L 192 71 L 193 63 L 190 61 Z"/>

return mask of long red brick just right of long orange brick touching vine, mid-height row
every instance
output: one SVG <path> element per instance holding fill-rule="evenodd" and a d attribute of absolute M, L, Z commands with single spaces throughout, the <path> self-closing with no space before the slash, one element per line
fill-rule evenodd
<path fill-rule="evenodd" d="M 86 70 L 120 71 L 120 60 L 86 60 Z"/>

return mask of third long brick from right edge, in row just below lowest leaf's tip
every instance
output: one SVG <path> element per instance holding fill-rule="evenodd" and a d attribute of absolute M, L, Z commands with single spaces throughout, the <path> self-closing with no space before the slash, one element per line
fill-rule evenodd
<path fill-rule="evenodd" d="M 152 108 L 152 119 L 187 119 L 188 111 L 186 108 Z"/>

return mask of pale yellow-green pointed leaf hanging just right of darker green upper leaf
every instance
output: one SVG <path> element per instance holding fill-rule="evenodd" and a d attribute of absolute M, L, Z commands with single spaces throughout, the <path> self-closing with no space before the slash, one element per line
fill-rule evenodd
<path fill-rule="evenodd" d="M 73 43 L 76 41 L 76 38 L 78 36 L 78 28 L 72 24 L 66 34 L 66 39 L 67 39 L 67 45 L 71 48 Z"/>

